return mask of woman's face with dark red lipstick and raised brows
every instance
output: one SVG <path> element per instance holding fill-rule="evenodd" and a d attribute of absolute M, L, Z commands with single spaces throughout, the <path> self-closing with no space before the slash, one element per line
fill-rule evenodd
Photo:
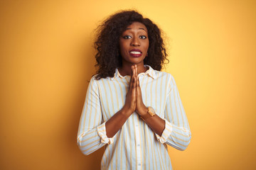
<path fill-rule="evenodd" d="M 122 64 L 144 64 L 143 60 L 148 49 L 149 38 L 146 26 L 139 22 L 127 26 L 119 38 Z"/>

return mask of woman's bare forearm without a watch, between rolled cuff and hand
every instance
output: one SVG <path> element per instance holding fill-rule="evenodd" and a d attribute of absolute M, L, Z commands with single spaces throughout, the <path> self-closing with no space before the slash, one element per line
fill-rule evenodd
<path fill-rule="evenodd" d="M 124 125 L 130 115 L 132 115 L 131 111 L 127 111 L 122 108 L 120 111 L 115 113 L 112 118 L 107 120 L 105 124 L 107 137 L 113 137 L 122 128 L 122 125 Z"/>

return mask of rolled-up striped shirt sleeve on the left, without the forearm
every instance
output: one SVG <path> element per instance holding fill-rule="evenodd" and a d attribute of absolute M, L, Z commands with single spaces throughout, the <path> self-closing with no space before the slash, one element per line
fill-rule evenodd
<path fill-rule="evenodd" d="M 104 124 L 102 124 L 100 96 L 97 84 L 94 77 L 92 77 L 87 89 L 78 129 L 78 147 L 83 154 L 87 155 L 95 152 L 95 150 L 100 149 L 107 142 L 110 142 L 107 139 L 101 142 L 98 129 L 104 128 Z"/>

